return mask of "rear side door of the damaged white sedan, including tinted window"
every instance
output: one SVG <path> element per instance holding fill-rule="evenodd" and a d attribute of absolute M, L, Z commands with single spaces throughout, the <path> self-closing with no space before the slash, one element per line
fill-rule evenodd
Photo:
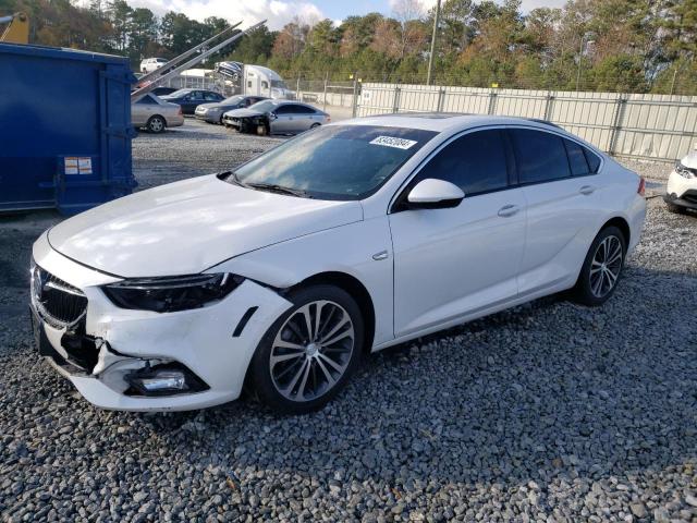
<path fill-rule="evenodd" d="M 601 177 L 591 172 L 599 161 L 589 163 L 585 147 L 561 134 L 537 127 L 510 127 L 508 133 L 527 202 L 518 278 L 525 295 L 575 278 L 588 238 L 595 235 Z"/>

